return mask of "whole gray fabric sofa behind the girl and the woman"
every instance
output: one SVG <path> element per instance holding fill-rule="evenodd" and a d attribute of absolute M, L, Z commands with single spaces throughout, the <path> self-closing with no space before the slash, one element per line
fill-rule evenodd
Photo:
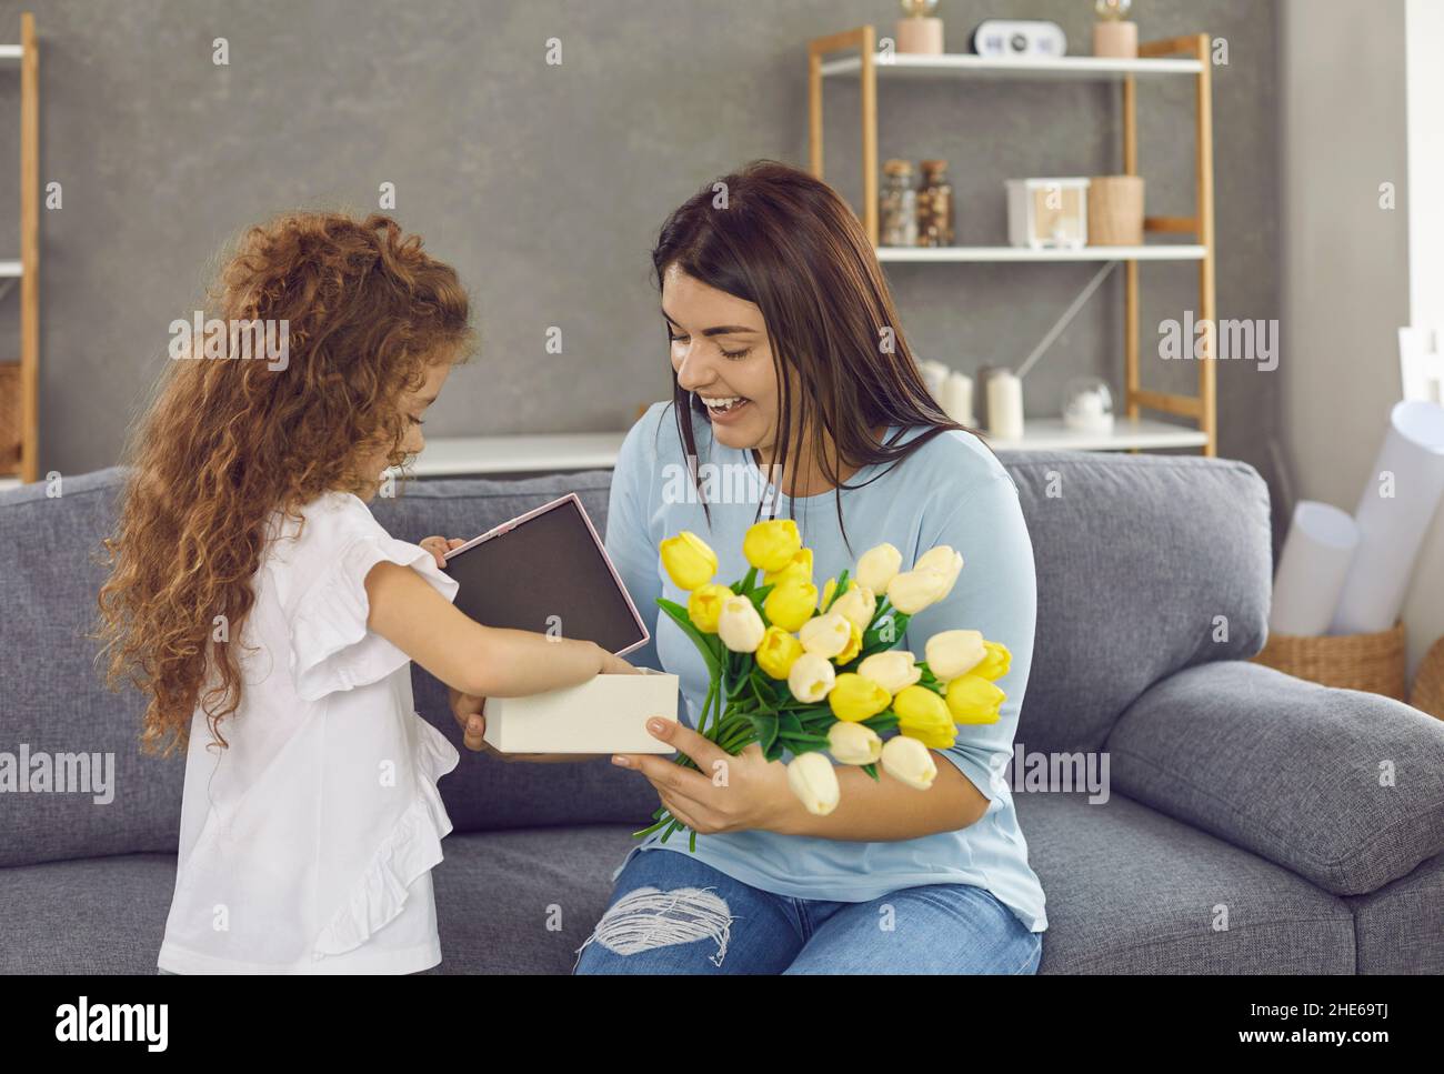
<path fill-rule="evenodd" d="M 1248 661 L 1271 588 L 1258 473 L 1002 458 L 1038 566 L 1014 787 L 1047 892 L 1041 972 L 1444 972 L 1444 722 Z M 601 528 L 609 476 L 414 482 L 375 512 L 406 540 L 469 537 L 575 489 Z M 59 498 L 0 494 L 0 755 L 114 756 L 107 804 L 0 793 L 3 973 L 155 973 L 183 761 L 140 755 L 139 699 L 104 690 L 82 637 L 118 488 L 103 471 Z M 456 742 L 443 690 L 414 676 Z M 1040 765 L 1069 755 L 1106 761 L 1106 797 Z M 605 761 L 569 767 L 563 794 L 559 775 L 462 751 L 442 780 L 436 972 L 570 970 L 656 800 Z"/>

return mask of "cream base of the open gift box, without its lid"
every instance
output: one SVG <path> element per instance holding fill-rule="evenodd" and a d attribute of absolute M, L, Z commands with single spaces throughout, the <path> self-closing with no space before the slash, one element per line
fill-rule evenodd
<path fill-rule="evenodd" d="M 647 720 L 677 717 L 677 677 L 637 670 L 530 697 L 488 697 L 487 742 L 503 754 L 671 754 Z"/>

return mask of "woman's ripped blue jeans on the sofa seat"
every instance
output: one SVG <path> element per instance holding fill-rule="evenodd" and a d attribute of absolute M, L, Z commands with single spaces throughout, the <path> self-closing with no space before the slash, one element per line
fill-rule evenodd
<path fill-rule="evenodd" d="M 871 902 L 777 895 L 677 850 L 643 850 L 573 973 L 1037 973 L 1043 934 L 967 883 Z"/>

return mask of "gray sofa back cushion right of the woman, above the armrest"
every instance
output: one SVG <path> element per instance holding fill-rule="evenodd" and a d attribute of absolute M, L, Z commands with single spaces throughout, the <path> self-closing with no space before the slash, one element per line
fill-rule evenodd
<path fill-rule="evenodd" d="M 1183 455 L 998 458 L 1018 486 L 1038 572 L 1017 736 L 1027 749 L 1096 751 L 1158 680 L 1264 647 L 1269 505 L 1252 466 Z"/>

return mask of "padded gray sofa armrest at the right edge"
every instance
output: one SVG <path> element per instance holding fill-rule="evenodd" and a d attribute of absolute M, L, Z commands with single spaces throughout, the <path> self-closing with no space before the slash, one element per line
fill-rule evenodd
<path fill-rule="evenodd" d="M 1225 660 L 1145 690 L 1106 749 L 1113 790 L 1359 895 L 1444 852 L 1444 720 Z"/>

